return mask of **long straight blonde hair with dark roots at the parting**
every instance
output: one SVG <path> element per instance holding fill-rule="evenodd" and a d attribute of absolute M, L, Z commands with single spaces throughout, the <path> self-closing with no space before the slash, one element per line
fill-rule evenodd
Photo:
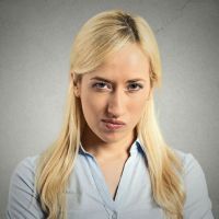
<path fill-rule="evenodd" d="M 158 45 L 147 22 L 122 10 L 104 11 L 91 18 L 76 36 L 70 56 L 70 84 L 64 126 L 57 140 L 42 153 L 36 172 L 36 191 L 47 218 L 66 218 L 66 196 L 83 126 L 80 100 L 74 96 L 77 80 L 100 67 L 104 59 L 127 43 L 135 43 L 150 60 L 151 89 L 161 83 Z M 72 78 L 72 73 L 74 78 Z M 136 127 L 146 148 L 152 196 L 168 218 L 183 218 L 185 191 L 180 158 L 168 147 L 159 129 L 151 94 Z"/>

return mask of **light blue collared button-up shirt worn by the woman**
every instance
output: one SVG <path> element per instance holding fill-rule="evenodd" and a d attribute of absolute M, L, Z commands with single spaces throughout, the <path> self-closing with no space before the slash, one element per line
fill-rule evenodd
<path fill-rule="evenodd" d="M 212 219 L 205 174 L 191 153 L 174 149 L 183 160 L 186 203 L 185 219 Z M 162 219 L 163 210 L 152 198 L 147 154 L 137 139 L 113 199 L 95 158 L 80 146 L 76 166 L 66 192 L 70 219 Z M 14 170 L 9 191 L 7 218 L 39 219 L 45 215 L 34 188 L 36 157 L 28 157 Z"/>

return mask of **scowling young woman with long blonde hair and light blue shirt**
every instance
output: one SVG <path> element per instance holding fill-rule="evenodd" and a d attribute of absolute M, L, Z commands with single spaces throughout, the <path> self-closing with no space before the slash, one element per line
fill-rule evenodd
<path fill-rule="evenodd" d="M 159 130 L 161 61 L 147 22 L 120 10 L 95 15 L 70 61 L 64 127 L 16 166 L 7 218 L 212 219 L 199 163 Z"/>

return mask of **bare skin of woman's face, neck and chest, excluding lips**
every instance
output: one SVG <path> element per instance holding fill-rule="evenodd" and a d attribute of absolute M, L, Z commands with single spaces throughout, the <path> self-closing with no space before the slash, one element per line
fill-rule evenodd
<path fill-rule="evenodd" d="M 74 94 L 87 122 L 81 142 L 95 157 L 113 198 L 150 91 L 149 60 L 137 44 L 127 44 L 77 83 Z M 125 126 L 111 130 L 103 118 L 116 118 Z"/>

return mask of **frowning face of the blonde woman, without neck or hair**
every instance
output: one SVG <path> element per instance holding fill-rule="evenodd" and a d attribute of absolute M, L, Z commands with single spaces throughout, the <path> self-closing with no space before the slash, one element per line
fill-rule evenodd
<path fill-rule="evenodd" d="M 128 44 L 83 74 L 77 93 L 88 124 L 84 138 L 105 143 L 130 139 L 150 93 L 149 60 Z"/>

